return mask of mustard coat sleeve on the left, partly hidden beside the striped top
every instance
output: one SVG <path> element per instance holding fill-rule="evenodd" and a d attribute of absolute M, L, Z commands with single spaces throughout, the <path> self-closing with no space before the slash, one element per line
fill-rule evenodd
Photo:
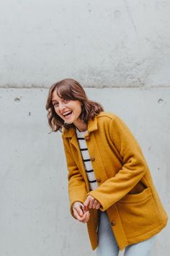
<path fill-rule="evenodd" d="M 73 155 L 71 153 L 71 148 L 68 144 L 68 141 L 63 138 L 63 146 L 66 154 L 66 162 L 68 167 L 68 195 L 70 200 L 70 210 L 72 212 L 72 205 L 74 202 L 79 201 L 84 203 L 86 199 L 86 184 L 83 177 L 79 171 L 78 166 L 73 160 Z"/>

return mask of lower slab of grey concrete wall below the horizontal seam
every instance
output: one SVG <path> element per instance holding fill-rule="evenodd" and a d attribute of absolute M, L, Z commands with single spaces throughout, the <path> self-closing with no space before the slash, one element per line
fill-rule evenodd
<path fill-rule="evenodd" d="M 89 98 L 119 115 L 140 142 L 169 213 L 170 89 L 86 89 Z M 0 89 L 0 255 L 85 256 L 86 226 L 68 210 L 61 134 L 47 124 L 47 89 Z M 169 252 L 169 226 L 158 234 L 154 256 Z"/>

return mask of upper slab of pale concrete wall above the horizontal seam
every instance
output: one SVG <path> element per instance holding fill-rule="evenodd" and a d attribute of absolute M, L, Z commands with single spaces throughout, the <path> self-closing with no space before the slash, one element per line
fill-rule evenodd
<path fill-rule="evenodd" d="M 0 1 L 0 86 L 169 86 L 169 0 Z"/>

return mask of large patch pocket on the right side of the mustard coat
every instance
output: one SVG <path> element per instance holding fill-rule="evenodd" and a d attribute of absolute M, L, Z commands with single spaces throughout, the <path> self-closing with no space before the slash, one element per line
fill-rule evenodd
<path fill-rule="evenodd" d="M 116 203 L 127 238 L 146 234 L 161 224 L 161 218 L 151 189 L 128 194 Z"/>

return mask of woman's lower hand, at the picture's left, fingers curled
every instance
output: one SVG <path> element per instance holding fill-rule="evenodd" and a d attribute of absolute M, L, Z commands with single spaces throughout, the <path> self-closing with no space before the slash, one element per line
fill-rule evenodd
<path fill-rule="evenodd" d="M 84 205 L 81 202 L 74 202 L 73 206 L 73 216 L 78 221 L 86 223 L 89 221 L 90 213 L 89 210 L 85 210 Z"/>

